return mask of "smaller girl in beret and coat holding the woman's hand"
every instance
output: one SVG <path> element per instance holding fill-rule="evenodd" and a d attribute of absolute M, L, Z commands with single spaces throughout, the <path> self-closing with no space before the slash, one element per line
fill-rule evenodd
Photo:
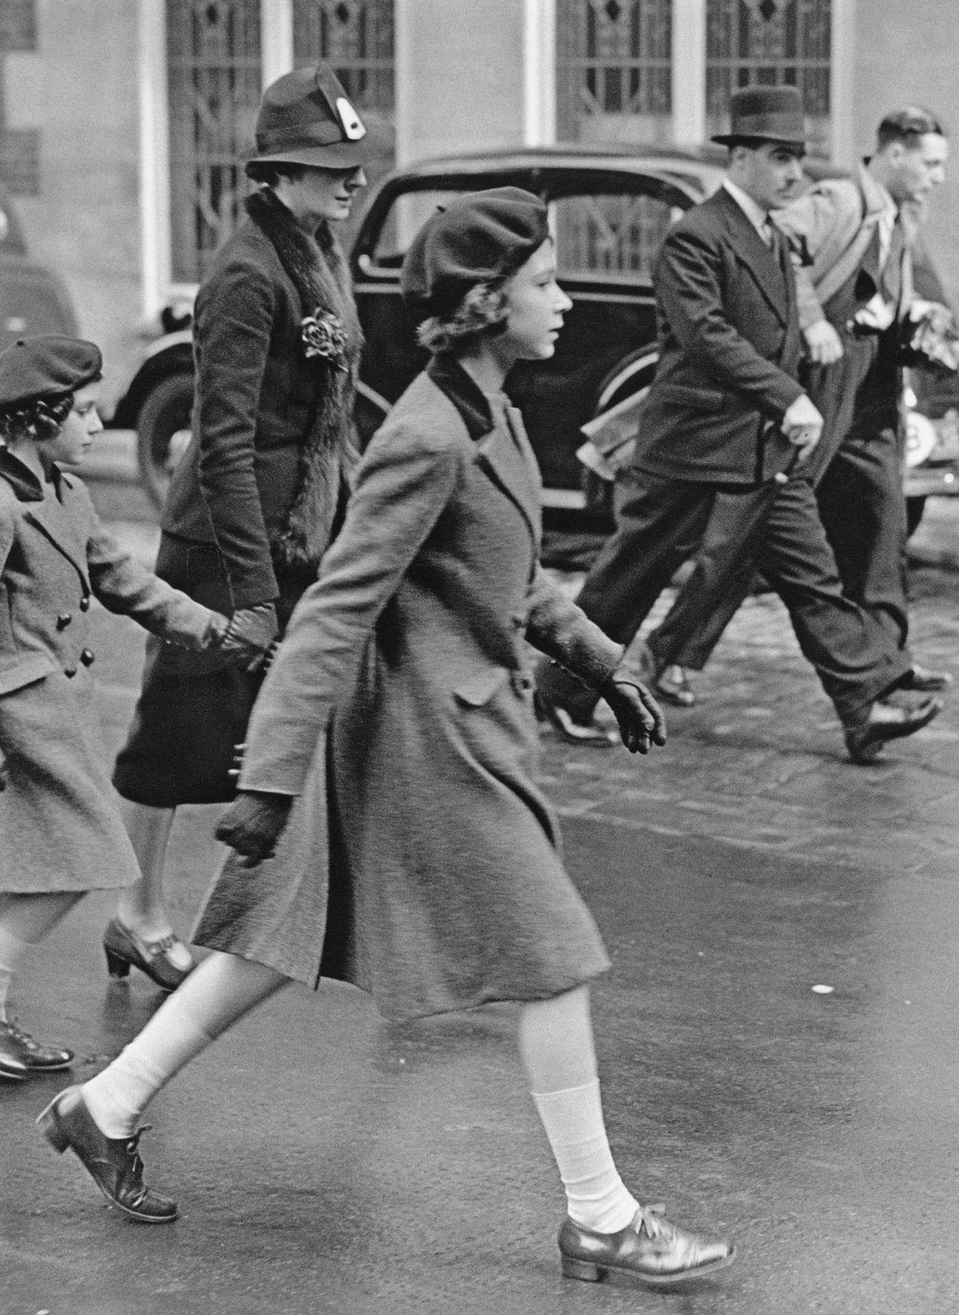
<path fill-rule="evenodd" d="M 0 1078 L 70 1066 L 7 1014 L 11 982 L 87 892 L 130 885 L 137 860 L 93 704 L 91 598 L 160 640 L 207 648 L 225 617 L 158 580 L 97 521 L 78 466 L 103 429 L 100 351 L 38 337 L 0 355 Z"/>

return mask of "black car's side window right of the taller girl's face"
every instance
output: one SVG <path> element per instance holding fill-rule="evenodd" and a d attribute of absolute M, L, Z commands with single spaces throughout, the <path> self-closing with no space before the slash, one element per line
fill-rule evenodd
<path fill-rule="evenodd" d="M 683 214 L 659 196 L 583 192 L 550 204 L 566 275 L 649 276 L 670 226 Z"/>

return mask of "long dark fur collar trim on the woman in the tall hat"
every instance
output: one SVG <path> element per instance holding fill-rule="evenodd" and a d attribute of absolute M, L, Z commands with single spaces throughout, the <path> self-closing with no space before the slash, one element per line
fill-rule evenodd
<path fill-rule="evenodd" d="M 317 409 L 300 452 L 297 492 L 270 535 L 280 568 L 316 568 L 326 551 L 341 487 L 357 458 L 353 404 L 363 334 L 350 272 L 326 224 L 310 237 L 268 188 L 246 213 L 272 242 L 303 302 L 303 351 L 318 372 Z"/>

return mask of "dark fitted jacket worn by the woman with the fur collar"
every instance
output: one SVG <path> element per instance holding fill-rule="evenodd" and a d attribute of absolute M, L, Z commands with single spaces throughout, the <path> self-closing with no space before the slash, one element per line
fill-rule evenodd
<path fill-rule="evenodd" d="M 268 530 L 296 493 L 326 383 L 303 351 L 305 313 L 272 242 L 245 220 L 197 293 L 193 439 L 162 518 L 170 534 L 218 546 L 234 608 L 280 592 Z"/>

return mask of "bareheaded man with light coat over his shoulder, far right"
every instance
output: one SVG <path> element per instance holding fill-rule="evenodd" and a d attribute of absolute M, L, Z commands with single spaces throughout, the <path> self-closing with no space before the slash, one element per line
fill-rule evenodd
<path fill-rule="evenodd" d="M 905 585 L 906 508 L 900 421 L 901 356 L 909 326 L 929 302 L 913 296 L 912 250 L 925 203 L 945 179 L 948 142 L 935 114 L 918 105 L 889 110 L 876 149 L 852 178 L 824 179 L 776 217 L 793 249 L 809 394 L 825 418 L 809 463 L 820 517 L 850 598 L 908 647 Z M 925 289 L 923 289 L 925 292 Z M 942 301 L 941 289 L 930 293 Z M 714 523 L 730 510 L 720 498 Z M 735 509 L 731 509 L 735 514 Z M 706 535 L 709 538 L 709 535 Z M 679 651 L 674 610 L 649 638 L 680 671 L 701 671 L 737 608 L 755 585 L 750 558 L 729 562 L 714 606 Z M 735 579 L 731 572 L 735 571 Z M 904 688 L 929 692 L 951 684 L 910 658 Z M 688 682 L 671 671 L 677 690 Z"/>

